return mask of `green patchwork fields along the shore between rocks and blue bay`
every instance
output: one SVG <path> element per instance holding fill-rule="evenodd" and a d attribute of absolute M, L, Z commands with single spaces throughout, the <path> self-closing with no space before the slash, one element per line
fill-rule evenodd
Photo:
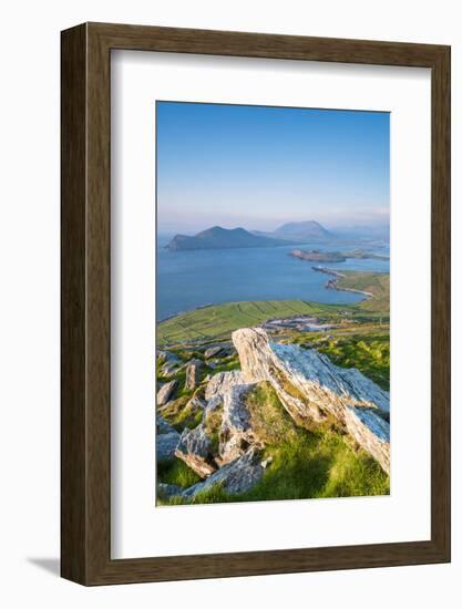
<path fill-rule="evenodd" d="M 275 300 L 227 302 L 194 309 L 167 319 L 157 324 L 157 344 L 179 344 L 184 342 L 207 342 L 228 340 L 238 328 L 259 326 L 271 318 L 308 314 L 327 322 L 338 322 L 347 316 L 361 322 L 388 321 L 390 279 L 387 273 L 346 272 L 339 287 L 365 290 L 373 298 L 358 304 L 322 304 L 306 300 Z"/>

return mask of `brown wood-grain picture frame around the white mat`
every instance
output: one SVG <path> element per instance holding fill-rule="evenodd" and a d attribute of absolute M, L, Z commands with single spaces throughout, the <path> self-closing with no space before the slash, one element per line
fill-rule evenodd
<path fill-rule="evenodd" d="M 450 48 L 84 23 L 62 32 L 61 574 L 83 585 L 450 560 Z M 110 62 L 130 49 L 431 69 L 431 539 L 111 559 Z"/>

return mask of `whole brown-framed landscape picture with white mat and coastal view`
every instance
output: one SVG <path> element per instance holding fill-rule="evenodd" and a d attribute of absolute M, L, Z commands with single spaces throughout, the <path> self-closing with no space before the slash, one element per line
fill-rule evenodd
<path fill-rule="evenodd" d="M 62 32 L 62 576 L 450 560 L 450 48 Z"/>

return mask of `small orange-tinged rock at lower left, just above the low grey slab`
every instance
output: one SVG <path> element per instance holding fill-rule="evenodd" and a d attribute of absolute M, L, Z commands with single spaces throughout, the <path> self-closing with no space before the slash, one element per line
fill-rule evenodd
<path fill-rule="evenodd" d="M 217 464 L 214 457 L 214 444 L 207 434 L 205 422 L 194 430 L 183 431 L 175 456 L 183 460 L 202 478 L 215 472 Z"/>

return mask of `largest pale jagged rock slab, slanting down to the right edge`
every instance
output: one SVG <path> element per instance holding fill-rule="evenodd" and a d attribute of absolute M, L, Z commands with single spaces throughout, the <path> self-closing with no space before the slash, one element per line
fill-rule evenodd
<path fill-rule="evenodd" d="M 390 472 L 389 394 L 315 349 L 270 342 L 260 328 L 233 333 L 243 383 L 268 381 L 297 424 L 333 420 Z"/>

